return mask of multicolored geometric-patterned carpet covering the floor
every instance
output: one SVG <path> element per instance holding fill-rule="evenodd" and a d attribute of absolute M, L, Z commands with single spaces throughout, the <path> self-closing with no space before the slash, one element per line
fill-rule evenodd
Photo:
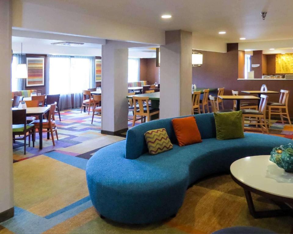
<path fill-rule="evenodd" d="M 236 225 L 289 233 L 292 228 L 291 217 L 252 218 L 243 190 L 229 175 L 213 176 L 189 188 L 175 218 L 150 225 L 101 219 L 89 198 L 86 163 L 100 148 L 124 140 L 125 134 L 101 134 L 100 117 L 95 116 L 92 125 L 91 115 L 78 109 L 62 111 L 62 121 L 57 116 L 56 120 L 59 141 L 55 137 L 55 147 L 45 133 L 41 151 L 38 137 L 26 155 L 23 141 L 13 144 L 15 216 L 0 223 L 0 233 L 211 233 Z M 293 128 L 279 122 L 271 133 L 293 138 Z M 259 196 L 254 199 L 257 209 L 274 207 Z"/>

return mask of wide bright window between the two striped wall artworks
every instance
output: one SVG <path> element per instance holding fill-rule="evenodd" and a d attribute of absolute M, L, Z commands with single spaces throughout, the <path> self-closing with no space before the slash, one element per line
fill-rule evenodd
<path fill-rule="evenodd" d="M 49 94 L 81 93 L 92 85 L 88 57 L 49 57 Z"/>

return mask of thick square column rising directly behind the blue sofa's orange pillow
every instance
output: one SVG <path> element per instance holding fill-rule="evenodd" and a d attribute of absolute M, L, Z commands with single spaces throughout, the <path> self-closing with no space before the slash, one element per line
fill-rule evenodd
<path fill-rule="evenodd" d="M 192 33 L 165 32 L 160 47 L 160 119 L 191 114 Z"/>

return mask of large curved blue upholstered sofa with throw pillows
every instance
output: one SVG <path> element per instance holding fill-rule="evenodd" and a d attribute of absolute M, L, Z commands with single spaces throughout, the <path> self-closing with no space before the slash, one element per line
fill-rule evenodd
<path fill-rule="evenodd" d="M 186 189 L 197 180 L 229 172 L 233 161 L 269 154 L 292 140 L 244 133 L 233 140 L 216 140 L 212 113 L 194 115 L 202 142 L 179 147 L 171 119 L 146 122 L 129 129 L 126 140 L 100 149 L 89 159 L 86 178 L 92 203 L 100 215 L 116 222 L 145 224 L 175 215 Z M 144 133 L 165 128 L 173 149 L 148 154 Z"/>

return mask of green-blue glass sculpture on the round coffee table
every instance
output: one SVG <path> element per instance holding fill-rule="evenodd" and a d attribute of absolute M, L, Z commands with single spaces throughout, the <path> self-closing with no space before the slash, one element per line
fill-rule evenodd
<path fill-rule="evenodd" d="M 285 172 L 293 173 L 293 145 L 280 145 L 273 148 L 269 160 L 283 168 Z"/>

